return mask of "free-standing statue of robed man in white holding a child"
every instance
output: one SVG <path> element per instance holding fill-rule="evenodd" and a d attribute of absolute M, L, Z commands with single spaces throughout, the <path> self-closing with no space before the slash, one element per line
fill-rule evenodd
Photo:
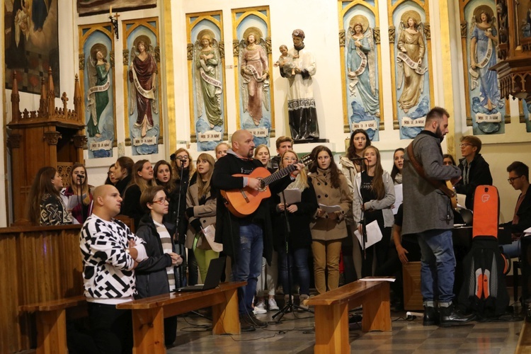
<path fill-rule="evenodd" d="M 293 58 L 295 75 L 287 76 L 280 70 L 280 75 L 287 78 L 287 113 L 293 139 L 319 139 L 319 124 L 315 109 L 312 76 L 316 73 L 315 57 L 304 47 L 304 31 L 294 30 L 293 47 L 288 54 Z"/>

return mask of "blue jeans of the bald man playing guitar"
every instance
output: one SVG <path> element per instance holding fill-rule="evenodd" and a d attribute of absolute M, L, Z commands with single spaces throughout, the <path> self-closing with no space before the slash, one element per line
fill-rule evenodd
<path fill-rule="evenodd" d="M 240 314 L 253 312 L 253 297 L 256 282 L 262 270 L 263 229 L 259 225 L 240 226 L 240 249 L 238 259 L 232 266 L 234 281 L 246 281 L 238 288 L 238 309 Z"/>

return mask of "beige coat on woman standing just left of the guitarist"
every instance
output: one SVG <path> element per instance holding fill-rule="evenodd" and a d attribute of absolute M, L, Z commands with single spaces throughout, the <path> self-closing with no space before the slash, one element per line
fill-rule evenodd
<path fill-rule="evenodd" d="M 212 198 L 212 195 L 207 193 L 207 202 L 204 205 L 199 204 L 198 197 L 198 185 L 197 183 L 188 187 L 186 193 L 186 207 L 193 207 L 193 217 L 188 220 L 188 232 L 186 232 L 185 247 L 191 249 L 193 247 L 193 240 L 195 235 L 199 235 L 197 248 L 198 249 L 212 249 L 208 244 L 205 235 L 200 232 L 201 230 L 195 230 L 192 227 L 191 222 L 193 219 L 199 219 L 201 226 L 205 229 L 209 225 L 216 225 L 216 198 Z"/>

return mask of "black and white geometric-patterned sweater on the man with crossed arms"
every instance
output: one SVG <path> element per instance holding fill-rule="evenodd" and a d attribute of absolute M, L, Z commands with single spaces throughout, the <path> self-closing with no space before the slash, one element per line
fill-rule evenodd
<path fill-rule="evenodd" d="M 125 251 L 130 239 L 137 245 L 144 244 L 119 220 L 108 222 L 96 215 L 86 219 L 79 247 L 87 301 L 118 304 L 135 295 L 135 261 Z"/>

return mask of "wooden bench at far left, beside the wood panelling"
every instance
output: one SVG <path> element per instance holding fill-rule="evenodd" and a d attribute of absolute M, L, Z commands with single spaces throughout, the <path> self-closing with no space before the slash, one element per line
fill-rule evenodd
<path fill-rule="evenodd" d="M 87 315 L 84 295 L 21 305 L 18 309 L 35 312 L 38 354 L 67 354 L 67 318 Z"/>

